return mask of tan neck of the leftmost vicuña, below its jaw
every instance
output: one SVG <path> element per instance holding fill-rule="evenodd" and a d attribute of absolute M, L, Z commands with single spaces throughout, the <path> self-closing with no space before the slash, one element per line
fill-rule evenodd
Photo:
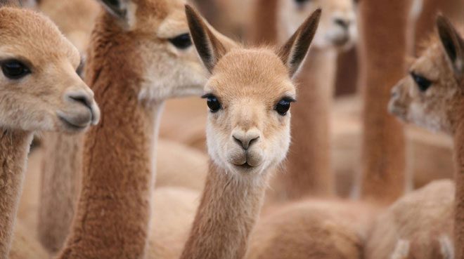
<path fill-rule="evenodd" d="M 0 259 L 8 259 L 32 133 L 0 128 Z"/>

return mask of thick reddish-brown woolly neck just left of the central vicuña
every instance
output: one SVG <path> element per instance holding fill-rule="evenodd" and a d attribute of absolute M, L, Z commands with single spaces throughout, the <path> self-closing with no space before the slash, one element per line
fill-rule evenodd
<path fill-rule="evenodd" d="M 111 19 L 105 16 L 103 22 Z M 138 46 L 129 39 L 127 44 L 112 42 L 128 36 L 110 23 L 94 31 L 86 79 L 102 117 L 84 140 L 82 190 L 60 258 L 145 255 L 152 153 L 163 104 L 146 107 L 138 100 L 143 81 Z"/>

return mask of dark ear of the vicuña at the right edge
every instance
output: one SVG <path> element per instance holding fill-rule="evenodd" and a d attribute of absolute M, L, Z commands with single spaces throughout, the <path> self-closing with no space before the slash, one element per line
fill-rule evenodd
<path fill-rule="evenodd" d="M 454 74 L 460 81 L 464 79 L 464 40 L 443 15 L 439 15 L 437 18 L 437 28 Z"/>

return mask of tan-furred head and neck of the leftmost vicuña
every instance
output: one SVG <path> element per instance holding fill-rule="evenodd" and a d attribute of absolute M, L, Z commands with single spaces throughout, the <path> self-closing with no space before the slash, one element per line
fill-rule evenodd
<path fill-rule="evenodd" d="M 0 163 L 3 164 L 0 258 L 3 259 L 8 258 L 11 247 L 32 133 L 81 132 L 98 122 L 100 111 L 94 93 L 75 72 L 79 53 L 49 19 L 32 11 L 0 8 L 0 37 L 4 42 L 0 48 L 2 62 L 16 59 L 30 69 L 21 79 L 8 79 L 5 72 L 0 79 Z M 23 244 L 25 251 L 30 251 L 27 245 Z"/>

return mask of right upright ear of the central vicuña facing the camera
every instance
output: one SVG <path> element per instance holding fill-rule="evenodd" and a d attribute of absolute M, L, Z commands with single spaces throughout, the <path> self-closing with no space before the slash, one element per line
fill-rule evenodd
<path fill-rule="evenodd" d="M 299 26 L 295 34 L 287 41 L 287 43 L 279 51 L 283 63 L 288 67 L 290 77 L 293 77 L 299 66 L 308 53 L 311 41 L 316 34 L 316 29 L 321 18 L 321 9 L 314 11 L 307 20 Z"/>

